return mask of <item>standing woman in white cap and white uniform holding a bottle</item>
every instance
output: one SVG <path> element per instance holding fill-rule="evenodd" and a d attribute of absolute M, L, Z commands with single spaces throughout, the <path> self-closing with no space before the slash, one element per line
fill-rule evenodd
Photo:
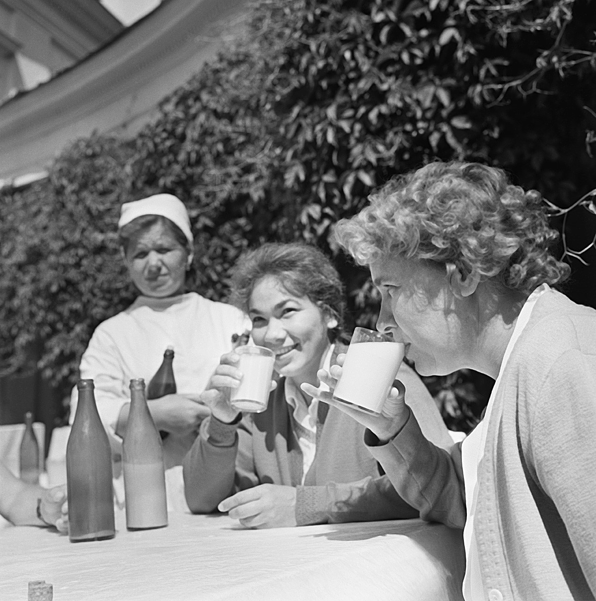
<path fill-rule="evenodd" d="M 164 440 L 166 468 L 181 461 L 209 411 L 198 402 L 222 353 L 249 322 L 231 305 L 186 292 L 193 237 L 184 204 L 157 194 L 122 206 L 118 235 L 124 263 L 139 296 L 129 308 L 97 326 L 81 359 L 81 377 L 95 384 L 97 409 L 118 454 L 126 433 L 129 384 L 150 382 L 168 346 L 174 347 L 176 394 L 148 401 Z M 71 398 L 71 421 L 76 389 Z"/>

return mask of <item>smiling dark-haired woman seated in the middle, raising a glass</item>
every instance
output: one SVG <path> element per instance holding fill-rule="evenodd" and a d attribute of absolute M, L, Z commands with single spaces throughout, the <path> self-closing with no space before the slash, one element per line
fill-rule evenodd
<path fill-rule="evenodd" d="M 300 384 L 318 385 L 345 346 L 339 275 L 318 249 L 270 243 L 246 252 L 231 278 L 233 301 L 248 313 L 255 344 L 275 353 L 279 375 L 267 409 L 244 416 L 230 404 L 242 373 L 223 355 L 201 396 L 211 416 L 184 459 L 186 500 L 194 513 L 219 508 L 252 528 L 414 517 L 366 451 L 363 428 Z M 402 365 L 413 410 L 437 445 L 452 444 L 433 399 Z"/>

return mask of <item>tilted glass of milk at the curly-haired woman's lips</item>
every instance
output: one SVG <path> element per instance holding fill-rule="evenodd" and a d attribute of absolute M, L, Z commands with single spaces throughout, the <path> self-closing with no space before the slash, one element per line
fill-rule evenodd
<path fill-rule="evenodd" d="M 333 398 L 379 415 L 397 376 L 406 345 L 375 330 L 354 328 Z"/>

